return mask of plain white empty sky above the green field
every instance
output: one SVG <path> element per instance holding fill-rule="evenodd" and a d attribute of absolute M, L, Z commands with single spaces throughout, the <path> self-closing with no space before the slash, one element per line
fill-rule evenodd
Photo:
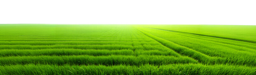
<path fill-rule="evenodd" d="M 255 0 L 0 0 L 0 24 L 256 25 Z"/>

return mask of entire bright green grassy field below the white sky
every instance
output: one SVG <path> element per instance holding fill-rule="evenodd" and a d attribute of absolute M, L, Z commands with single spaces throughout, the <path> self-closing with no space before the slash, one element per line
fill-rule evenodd
<path fill-rule="evenodd" d="M 0 24 L 0 75 L 256 75 L 256 26 Z"/>

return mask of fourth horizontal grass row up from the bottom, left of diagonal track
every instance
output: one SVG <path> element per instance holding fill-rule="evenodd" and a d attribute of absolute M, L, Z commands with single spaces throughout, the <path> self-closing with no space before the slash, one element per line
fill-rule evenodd
<path fill-rule="evenodd" d="M 0 49 L 142 49 L 142 50 L 161 50 L 167 49 L 162 45 L 0 45 Z"/>

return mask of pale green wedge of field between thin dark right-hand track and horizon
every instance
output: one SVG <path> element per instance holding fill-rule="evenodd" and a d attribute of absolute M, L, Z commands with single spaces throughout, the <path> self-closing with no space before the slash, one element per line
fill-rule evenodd
<path fill-rule="evenodd" d="M 183 32 L 201 36 L 217 37 L 244 42 L 256 43 L 256 26 L 244 25 L 144 25 L 173 32 Z"/>

